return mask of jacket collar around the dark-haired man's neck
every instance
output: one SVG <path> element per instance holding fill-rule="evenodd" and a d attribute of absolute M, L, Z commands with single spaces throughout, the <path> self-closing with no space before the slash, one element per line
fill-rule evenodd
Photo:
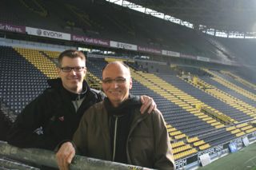
<path fill-rule="evenodd" d="M 86 81 L 82 82 L 82 93 L 72 93 L 65 89 L 62 85 L 62 79 L 61 78 L 55 78 L 55 79 L 49 79 L 47 80 L 48 85 L 50 85 L 53 89 L 61 89 L 63 93 L 65 93 L 71 101 L 79 100 L 86 96 L 86 93 L 90 91 L 90 87 L 87 84 Z"/>

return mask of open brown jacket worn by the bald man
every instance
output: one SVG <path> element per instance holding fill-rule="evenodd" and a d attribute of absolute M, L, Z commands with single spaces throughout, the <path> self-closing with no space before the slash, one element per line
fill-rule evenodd
<path fill-rule="evenodd" d="M 86 111 L 74 133 L 73 142 L 78 154 L 114 161 L 110 117 L 104 102 L 99 102 Z M 162 114 L 141 114 L 139 108 L 138 105 L 123 108 L 134 110 L 125 141 L 126 163 L 147 168 L 174 169 L 170 138 Z"/>

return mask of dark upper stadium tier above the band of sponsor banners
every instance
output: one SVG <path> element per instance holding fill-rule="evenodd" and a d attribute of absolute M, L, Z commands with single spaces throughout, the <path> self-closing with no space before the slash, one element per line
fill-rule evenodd
<path fill-rule="evenodd" d="M 4 0 L 0 6 L 0 22 L 146 45 L 220 61 L 229 58 L 229 54 L 223 53 L 209 41 L 210 38 L 194 30 L 163 22 L 105 0 L 36 2 Z M 163 27 L 166 29 L 162 30 Z M 156 34 L 155 30 L 162 31 Z"/>

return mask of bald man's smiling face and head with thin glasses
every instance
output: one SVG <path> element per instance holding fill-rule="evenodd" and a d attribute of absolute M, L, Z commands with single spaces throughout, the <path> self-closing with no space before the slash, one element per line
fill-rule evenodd
<path fill-rule="evenodd" d="M 103 70 L 102 89 L 114 107 L 126 101 L 131 87 L 130 73 L 124 65 L 112 63 Z"/>

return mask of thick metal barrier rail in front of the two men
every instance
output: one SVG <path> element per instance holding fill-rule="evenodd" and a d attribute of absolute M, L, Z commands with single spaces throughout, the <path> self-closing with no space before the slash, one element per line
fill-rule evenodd
<path fill-rule="evenodd" d="M 40 148 L 17 148 L 5 141 L 0 140 L 0 156 L 5 156 L 10 159 L 25 162 L 25 164 L 37 164 L 51 168 L 58 168 L 55 160 L 55 153 L 49 150 Z M 5 161 L 0 161 L 0 167 L 7 164 Z M 11 166 L 11 164 L 8 164 Z M 18 165 L 22 166 L 22 165 Z M 26 165 L 23 165 L 26 166 Z M 16 167 L 17 168 L 17 167 Z M 98 160 L 86 156 L 75 156 L 74 161 L 70 164 L 70 170 L 90 169 L 90 170 L 150 170 L 150 168 L 142 168 L 130 164 L 121 164 L 106 160 Z"/>

